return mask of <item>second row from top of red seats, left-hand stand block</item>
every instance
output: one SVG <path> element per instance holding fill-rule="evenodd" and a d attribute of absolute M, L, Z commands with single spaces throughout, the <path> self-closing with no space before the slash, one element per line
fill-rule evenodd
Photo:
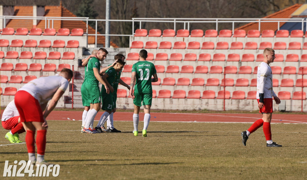
<path fill-rule="evenodd" d="M 9 47 L 9 40 L 0 39 L 0 47 Z M 11 41 L 10 47 L 26 47 L 26 48 L 78 48 L 79 41 L 77 40 L 69 40 L 67 41 L 67 45 L 65 46 L 64 40 L 55 40 L 53 41 L 53 45 L 51 46 L 50 40 L 40 40 L 39 45 L 37 46 L 36 40 L 26 40 L 25 44 L 23 44 L 23 40 L 14 39 Z"/>

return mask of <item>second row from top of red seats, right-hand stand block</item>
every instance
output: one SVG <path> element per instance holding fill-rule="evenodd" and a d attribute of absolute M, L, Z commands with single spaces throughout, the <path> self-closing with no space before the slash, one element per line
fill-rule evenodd
<path fill-rule="evenodd" d="M 147 41 L 144 47 L 144 43 L 142 41 L 132 41 L 130 48 L 145 48 L 145 49 L 157 49 L 158 43 L 156 41 Z M 170 41 L 161 41 L 159 49 L 171 49 L 172 43 Z M 174 43 L 173 49 L 200 49 L 200 42 L 191 41 L 188 43 L 188 47 L 186 47 L 186 43 L 184 41 L 177 41 Z M 244 49 L 265 49 L 272 48 L 271 42 L 261 42 L 259 47 L 257 42 L 247 42 L 245 43 Z M 214 49 L 214 42 L 207 41 L 202 43 L 201 49 Z M 242 42 L 232 42 L 229 48 L 228 42 L 217 42 L 215 49 L 243 49 Z M 287 45 L 285 42 L 275 42 L 274 49 L 287 49 Z M 288 49 L 301 49 L 300 42 L 290 42 Z M 307 42 L 303 44 L 303 49 L 307 49 Z"/>

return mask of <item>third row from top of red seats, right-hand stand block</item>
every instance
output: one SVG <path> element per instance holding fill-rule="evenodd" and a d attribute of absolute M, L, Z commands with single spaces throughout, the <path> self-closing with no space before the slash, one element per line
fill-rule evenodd
<path fill-rule="evenodd" d="M 139 56 L 137 52 L 130 52 L 127 55 L 126 60 L 139 60 Z M 167 53 L 157 53 L 156 57 L 154 58 L 153 53 L 148 53 L 148 57 L 146 58 L 147 61 L 240 61 L 239 54 L 228 54 L 227 59 L 226 55 L 223 53 L 213 54 L 213 58 L 211 59 L 211 54 L 209 53 L 202 53 L 199 54 L 198 59 L 195 53 L 187 53 L 185 54 L 184 58 L 181 53 L 172 53 L 170 57 Z M 263 61 L 263 54 L 258 54 L 256 59 L 254 54 L 243 54 L 241 58 L 242 62 L 247 61 Z M 275 54 L 274 62 L 282 62 L 284 61 L 284 55 L 282 54 Z M 298 62 L 299 56 L 297 54 L 287 54 L 285 61 L 287 62 Z M 301 56 L 300 62 L 307 62 L 307 54 L 303 54 Z"/>

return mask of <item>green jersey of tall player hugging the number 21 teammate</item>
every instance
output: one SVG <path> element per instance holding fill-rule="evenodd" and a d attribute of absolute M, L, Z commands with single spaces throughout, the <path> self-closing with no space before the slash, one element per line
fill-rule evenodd
<path fill-rule="evenodd" d="M 99 81 L 96 79 L 94 75 L 93 68 L 97 68 L 98 71 L 100 71 L 100 61 L 99 59 L 95 57 L 91 57 L 88 60 L 87 66 L 86 66 L 86 84 L 98 84 Z"/>

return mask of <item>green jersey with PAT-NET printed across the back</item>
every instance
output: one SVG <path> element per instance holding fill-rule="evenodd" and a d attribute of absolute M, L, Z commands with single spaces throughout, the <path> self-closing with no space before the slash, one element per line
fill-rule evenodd
<path fill-rule="evenodd" d="M 134 92 L 152 93 L 151 76 L 157 74 L 153 63 L 148 61 L 139 61 L 132 66 L 131 71 L 136 72 Z"/>

